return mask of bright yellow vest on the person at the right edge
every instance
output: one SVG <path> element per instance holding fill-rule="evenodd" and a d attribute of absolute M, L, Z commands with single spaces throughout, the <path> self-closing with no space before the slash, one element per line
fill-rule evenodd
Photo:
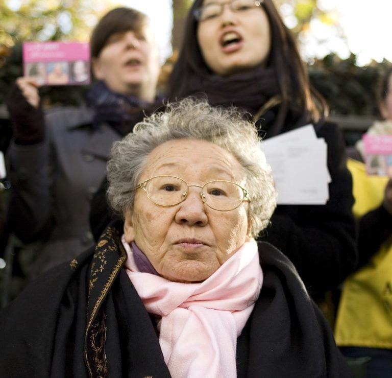
<path fill-rule="evenodd" d="M 387 177 L 366 175 L 365 165 L 349 159 L 356 218 L 380 206 Z M 335 338 L 339 346 L 392 348 L 392 238 L 342 288 Z"/>

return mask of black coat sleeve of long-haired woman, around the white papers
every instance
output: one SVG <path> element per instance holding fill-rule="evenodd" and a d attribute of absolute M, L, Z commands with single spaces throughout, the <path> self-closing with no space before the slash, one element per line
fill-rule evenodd
<path fill-rule="evenodd" d="M 355 270 L 356 224 L 344 138 L 335 124 L 315 125 L 328 148 L 329 200 L 325 205 L 278 205 L 260 240 L 280 249 L 312 293 L 336 288 Z"/>

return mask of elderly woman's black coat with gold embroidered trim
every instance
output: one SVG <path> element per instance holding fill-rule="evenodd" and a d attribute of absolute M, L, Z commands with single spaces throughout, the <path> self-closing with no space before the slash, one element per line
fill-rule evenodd
<path fill-rule="evenodd" d="M 154 323 L 122 265 L 122 224 L 95 253 L 38 277 L 0 313 L 4 377 L 169 377 Z M 237 339 L 239 377 L 348 377 L 332 332 L 295 268 L 259 243 L 263 286 Z"/>

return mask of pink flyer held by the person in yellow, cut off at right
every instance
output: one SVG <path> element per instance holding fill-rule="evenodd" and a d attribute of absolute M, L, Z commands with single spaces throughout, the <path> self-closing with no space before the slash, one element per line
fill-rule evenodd
<path fill-rule="evenodd" d="M 364 135 L 366 171 L 392 177 L 392 135 Z"/>

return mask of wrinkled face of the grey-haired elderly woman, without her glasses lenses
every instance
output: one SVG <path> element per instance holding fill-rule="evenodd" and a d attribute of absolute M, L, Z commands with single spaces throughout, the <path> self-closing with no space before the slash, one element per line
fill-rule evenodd
<path fill-rule="evenodd" d="M 158 175 L 177 176 L 197 185 L 211 180 L 244 181 L 237 159 L 204 140 L 169 140 L 150 153 L 145 167 L 139 182 Z M 203 281 L 247 239 L 248 203 L 218 211 L 203 203 L 200 191 L 191 186 L 183 202 L 162 207 L 139 189 L 133 211 L 126 214 L 126 241 L 135 241 L 167 279 Z"/>

